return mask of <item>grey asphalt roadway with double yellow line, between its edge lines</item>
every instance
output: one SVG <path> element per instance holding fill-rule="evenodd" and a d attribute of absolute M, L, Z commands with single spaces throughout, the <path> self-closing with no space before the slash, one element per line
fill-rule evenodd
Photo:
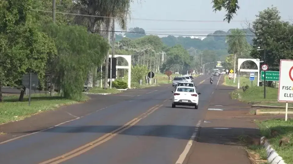
<path fill-rule="evenodd" d="M 55 128 L 1 143 L 0 163 L 175 164 L 204 117 L 216 87 L 218 77 L 213 85 L 205 80 L 208 78 L 194 79 L 195 84 L 201 83 L 197 88 L 201 92 L 198 109 L 171 108 L 174 87 L 170 84 L 113 102 Z M 91 103 L 85 107 L 96 106 Z"/>

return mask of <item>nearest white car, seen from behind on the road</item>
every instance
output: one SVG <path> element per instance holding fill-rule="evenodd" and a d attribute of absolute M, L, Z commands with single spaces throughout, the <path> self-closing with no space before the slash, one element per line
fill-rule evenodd
<path fill-rule="evenodd" d="M 195 87 L 179 86 L 171 93 L 173 93 L 172 108 L 175 108 L 176 105 L 183 105 L 195 106 L 194 108 L 198 109 L 198 95 L 201 93 L 197 93 Z"/>

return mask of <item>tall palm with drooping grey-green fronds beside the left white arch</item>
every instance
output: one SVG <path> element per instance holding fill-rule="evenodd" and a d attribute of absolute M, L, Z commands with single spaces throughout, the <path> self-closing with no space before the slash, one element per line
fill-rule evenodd
<path fill-rule="evenodd" d="M 132 2 L 133 0 L 76 0 L 74 9 L 78 13 L 103 17 L 77 16 L 75 23 L 87 26 L 89 32 L 98 32 L 100 35 L 106 36 L 110 44 L 111 22 L 116 20 L 121 29 L 126 30 L 127 17 L 130 15 L 129 9 Z M 104 89 L 108 87 L 108 59 L 109 51 L 105 62 Z M 92 78 L 89 78 L 89 81 L 92 81 Z"/>

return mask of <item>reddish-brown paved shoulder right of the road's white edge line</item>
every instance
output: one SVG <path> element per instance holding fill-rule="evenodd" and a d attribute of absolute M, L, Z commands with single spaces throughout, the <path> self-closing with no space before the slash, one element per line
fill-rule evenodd
<path fill-rule="evenodd" d="M 255 116 L 249 115 L 251 106 L 230 98 L 234 89 L 219 85 L 214 91 L 210 110 L 206 109 L 197 142 L 185 163 L 250 164 L 239 137 L 259 137 L 259 130 L 253 121 Z"/>

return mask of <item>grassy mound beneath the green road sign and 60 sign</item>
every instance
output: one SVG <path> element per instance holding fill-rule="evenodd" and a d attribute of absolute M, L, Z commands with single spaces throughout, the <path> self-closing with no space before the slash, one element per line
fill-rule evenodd
<path fill-rule="evenodd" d="M 277 101 L 278 100 L 277 93 L 278 93 L 278 88 L 266 87 L 266 98 L 264 98 L 263 87 L 249 87 L 245 92 L 242 90 L 242 88 L 234 90 L 231 96 L 232 98 L 238 99 L 237 94 L 240 94 L 241 96 L 240 101 L 244 101 L 244 102 Z"/>

